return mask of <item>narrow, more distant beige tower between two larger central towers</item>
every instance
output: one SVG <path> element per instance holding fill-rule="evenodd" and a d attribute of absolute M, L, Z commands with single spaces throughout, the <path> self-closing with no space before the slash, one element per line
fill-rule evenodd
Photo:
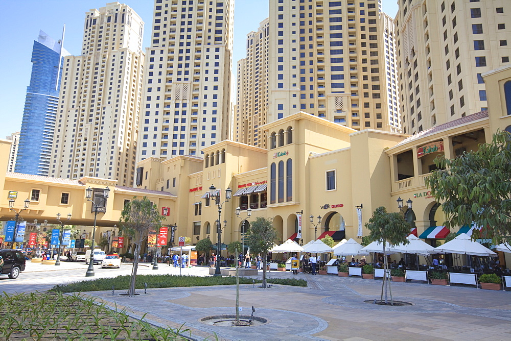
<path fill-rule="evenodd" d="M 259 127 L 266 124 L 268 108 L 269 20 L 247 34 L 247 57 L 238 61 L 234 136 L 238 142 L 266 148 Z"/>

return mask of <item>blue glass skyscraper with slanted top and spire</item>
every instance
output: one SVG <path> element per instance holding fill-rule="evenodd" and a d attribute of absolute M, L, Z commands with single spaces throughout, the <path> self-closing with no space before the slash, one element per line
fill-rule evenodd
<path fill-rule="evenodd" d="M 69 55 L 61 48 L 60 40 L 39 31 L 32 49 L 32 74 L 21 121 L 16 173 L 48 176 L 60 89 L 57 83 L 62 75 L 62 57 Z"/>

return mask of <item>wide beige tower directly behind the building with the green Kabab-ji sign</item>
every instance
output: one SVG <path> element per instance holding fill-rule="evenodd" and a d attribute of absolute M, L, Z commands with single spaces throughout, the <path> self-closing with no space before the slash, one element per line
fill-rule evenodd
<path fill-rule="evenodd" d="M 269 3 L 268 122 L 301 110 L 400 131 L 394 27 L 379 1 Z"/>

